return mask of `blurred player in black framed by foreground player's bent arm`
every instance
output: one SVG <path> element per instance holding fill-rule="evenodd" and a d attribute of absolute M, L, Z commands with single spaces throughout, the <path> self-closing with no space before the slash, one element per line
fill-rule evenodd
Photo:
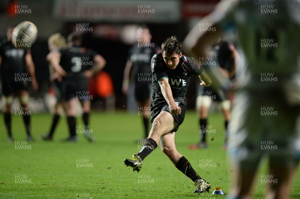
<path fill-rule="evenodd" d="M 212 47 L 216 54 L 212 56 L 216 57 L 217 60 L 215 67 L 219 66 L 222 73 L 232 80 L 235 76 L 235 68 L 239 59 L 234 46 L 227 41 L 219 40 L 213 44 Z M 228 96 L 228 93 L 224 93 L 220 88 L 212 89 L 210 87 L 201 87 L 199 88 L 198 93 L 199 96 L 197 97 L 196 111 L 199 119 L 200 141 L 195 145 L 190 145 L 189 149 L 207 148 L 206 135 L 212 130 L 207 128 L 208 111 L 211 102 L 216 101 L 219 106 L 218 108 L 224 117 L 225 141 L 222 148 L 226 150 L 228 140 L 227 126 L 230 119 L 230 96 Z"/>

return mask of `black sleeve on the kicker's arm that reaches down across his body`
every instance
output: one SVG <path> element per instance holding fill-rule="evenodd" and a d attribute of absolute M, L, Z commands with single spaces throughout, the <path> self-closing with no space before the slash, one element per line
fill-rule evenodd
<path fill-rule="evenodd" d="M 166 72 L 163 69 L 163 60 L 158 54 L 154 54 L 151 59 L 151 71 L 155 80 L 159 82 L 163 77 L 167 77 Z"/>

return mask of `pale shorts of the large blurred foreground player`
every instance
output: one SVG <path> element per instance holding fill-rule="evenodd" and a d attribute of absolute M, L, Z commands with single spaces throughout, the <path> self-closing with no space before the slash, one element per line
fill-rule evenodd
<path fill-rule="evenodd" d="M 228 126 L 228 153 L 243 169 L 256 169 L 262 157 L 283 167 L 300 158 L 300 106 L 289 106 L 284 92 L 235 94 Z"/>

